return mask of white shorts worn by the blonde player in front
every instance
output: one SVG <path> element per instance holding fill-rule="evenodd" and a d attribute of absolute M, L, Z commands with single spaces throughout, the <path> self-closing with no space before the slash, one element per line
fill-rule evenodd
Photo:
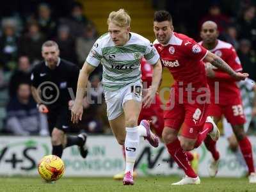
<path fill-rule="evenodd" d="M 124 113 L 124 103 L 127 100 L 142 102 L 142 84 L 137 81 L 127 84 L 115 92 L 104 91 L 107 104 L 108 120 L 113 120 Z"/>

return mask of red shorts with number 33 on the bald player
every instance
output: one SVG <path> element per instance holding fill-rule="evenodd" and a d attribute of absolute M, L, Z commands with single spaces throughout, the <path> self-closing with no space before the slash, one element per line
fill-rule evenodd
<path fill-rule="evenodd" d="M 231 125 L 242 125 L 246 122 L 241 97 L 232 98 L 232 104 L 214 104 L 211 102 L 207 114 L 218 118 L 224 115 Z"/>

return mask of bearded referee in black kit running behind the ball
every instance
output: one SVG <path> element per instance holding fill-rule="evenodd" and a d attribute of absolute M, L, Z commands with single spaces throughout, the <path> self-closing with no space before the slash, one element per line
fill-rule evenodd
<path fill-rule="evenodd" d="M 31 90 L 37 102 L 38 111 L 47 114 L 51 133 L 52 154 L 61 157 L 63 149 L 78 145 L 80 154 L 85 158 L 86 134 L 67 136 L 70 123 L 69 103 L 71 95 L 76 92 L 79 68 L 60 57 L 58 44 L 47 41 L 42 45 L 44 61 L 35 65 L 31 74 Z"/>

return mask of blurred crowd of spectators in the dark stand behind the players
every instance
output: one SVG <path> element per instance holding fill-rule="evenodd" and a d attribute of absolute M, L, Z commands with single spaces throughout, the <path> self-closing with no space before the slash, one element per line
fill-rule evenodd
<path fill-rule="evenodd" d="M 13 3 L 15 2 L 15 3 Z M 81 68 L 98 37 L 93 22 L 84 16 L 83 6 L 74 1 L 63 4 L 52 1 L 24 1 L 0 8 L 0 132 L 2 134 L 49 134 L 47 120 L 39 114 L 29 89 L 31 67 L 42 60 L 41 46 L 54 40 L 60 57 Z M 33 4 L 33 7 L 31 7 Z M 166 9 L 173 16 L 175 31 L 200 40 L 200 26 L 213 20 L 219 26 L 220 39 L 237 49 L 244 72 L 256 81 L 256 16 L 255 1 L 152 1 L 157 9 Z M 60 8 L 61 6 L 61 8 Z M 191 10 L 193 8 L 193 10 Z M 180 10 L 182 13 L 180 14 Z M 153 31 L 152 31 L 153 33 Z M 141 34 L 143 35 L 143 34 Z M 90 77 L 90 97 L 84 99 L 83 122 L 74 130 L 91 133 L 109 132 L 103 89 L 102 68 Z M 100 99 L 100 101 L 99 101 Z M 102 104 L 97 104 L 102 103 Z"/>

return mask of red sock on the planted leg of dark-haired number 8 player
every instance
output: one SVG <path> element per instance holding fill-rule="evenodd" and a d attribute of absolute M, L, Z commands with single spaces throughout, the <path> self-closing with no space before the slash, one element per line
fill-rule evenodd
<path fill-rule="evenodd" d="M 191 165 L 189 164 L 186 152 L 180 147 L 180 141 L 178 138 L 172 143 L 167 144 L 166 147 L 174 161 L 179 165 L 180 168 L 182 168 L 182 170 L 184 170 L 188 177 L 197 177 L 196 173 L 193 171 Z"/>

